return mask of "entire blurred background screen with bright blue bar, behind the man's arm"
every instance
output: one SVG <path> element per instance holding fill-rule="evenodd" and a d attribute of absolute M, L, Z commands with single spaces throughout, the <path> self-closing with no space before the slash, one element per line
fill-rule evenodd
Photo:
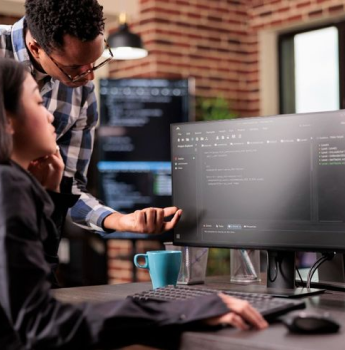
<path fill-rule="evenodd" d="M 172 205 L 170 124 L 193 119 L 190 79 L 101 79 L 95 186 L 106 205 L 132 213 Z M 106 238 L 172 239 L 112 233 Z"/>

